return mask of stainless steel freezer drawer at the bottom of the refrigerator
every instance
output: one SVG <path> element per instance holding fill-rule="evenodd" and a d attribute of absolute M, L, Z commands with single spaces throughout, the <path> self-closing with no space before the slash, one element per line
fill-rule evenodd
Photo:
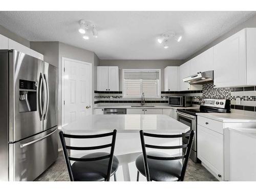
<path fill-rule="evenodd" d="M 57 126 L 9 144 L 9 180 L 33 181 L 58 156 Z"/>

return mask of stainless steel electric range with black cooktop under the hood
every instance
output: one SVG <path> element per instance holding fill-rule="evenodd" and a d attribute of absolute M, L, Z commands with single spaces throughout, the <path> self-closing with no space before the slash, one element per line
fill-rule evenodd
<path fill-rule="evenodd" d="M 177 120 L 190 126 L 190 130 L 195 131 L 195 138 L 192 145 L 190 159 L 200 162 L 197 158 L 197 113 L 230 113 L 229 99 L 201 99 L 199 109 L 177 109 Z M 188 142 L 188 138 L 182 138 L 183 143 Z"/>

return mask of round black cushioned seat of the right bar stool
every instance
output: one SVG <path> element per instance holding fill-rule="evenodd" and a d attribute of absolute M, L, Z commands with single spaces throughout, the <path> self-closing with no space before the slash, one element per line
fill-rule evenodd
<path fill-rule="evenodd" d="M 168 157 L 168 154 L 162 152 L 147 152 L 147 155 L 156 157 Z M 143 161 L 143 154 L 136 159 L 136 167 L 138 171 L 146 177 Z M 181 175 L 182 163 L 180 160 L 155 160 L 148 159 L 148 169 L 150 178 L 153 181 L 178 181 Z"/>

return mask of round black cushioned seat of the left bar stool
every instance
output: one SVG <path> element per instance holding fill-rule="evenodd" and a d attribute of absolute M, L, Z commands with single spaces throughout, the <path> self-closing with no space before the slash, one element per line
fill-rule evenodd
<path fill-rule="evenodd" d="M 82 158 L 95 158 L 110 155 L 105 152 L 91 153 Z M 76 161 L 72 166 L 73 177 L 75 181 L 104 181 L 108 170 L 109 158 L 97 161 Z M 113 165 L 111 176 L 116 173 L 119 166 L 119 161 L 116 156 L 113 157 Z"/>

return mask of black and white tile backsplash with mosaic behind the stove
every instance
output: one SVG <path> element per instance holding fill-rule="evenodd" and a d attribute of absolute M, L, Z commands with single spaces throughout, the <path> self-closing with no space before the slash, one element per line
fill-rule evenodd
<path fill-rule="evenodd" d="M 146 98 L 146 103 L 168 104 L 169 96 L 191 96 L 193 104 L 199 104 L 202 98 L 230 99 L 232 113 L 256 116 L 256 87 L 215 88 L 214 83 L 203 84 L 202 91 L 172 92 L 162 91 L 161 98 Z M 236 99 L 241 104 L 236 104 Z M 123 98 L 122 91 L 95 91 L 94 103 L 139 103 L 140 98 Z"/>

